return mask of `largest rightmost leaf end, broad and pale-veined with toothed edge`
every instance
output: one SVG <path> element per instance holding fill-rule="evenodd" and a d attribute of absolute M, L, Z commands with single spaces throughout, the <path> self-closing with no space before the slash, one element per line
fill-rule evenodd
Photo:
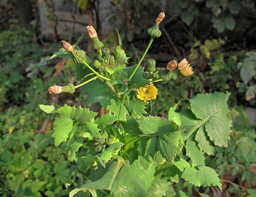
<path fill-rule="evenodd" d="M 214 92 L 212 94 L 198 94 L 190 99 L 191 110 L 197 118 L 206 122 L 205 131 L 210 140 L 217 146 L 227 146 L 231 132 L 231 120 L 227 118 L 228 94 Z M 196 129 L 196 128 L 195 128 Z"/>

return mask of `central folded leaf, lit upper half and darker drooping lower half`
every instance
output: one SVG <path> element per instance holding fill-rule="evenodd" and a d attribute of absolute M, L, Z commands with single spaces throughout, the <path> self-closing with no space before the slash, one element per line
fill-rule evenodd
<path fill-rule="evenodd" d="M 173 157 L 176 157 L 177 150 L 179 149 L 178 144 L 181 131 L 178 125 L 173 121 L 156 116 L 140 119 L 138 124 L 139 129 L 144 134 L 155 134 L 157 136 L 157 149 L 167 161 L 171 162 Z"/>

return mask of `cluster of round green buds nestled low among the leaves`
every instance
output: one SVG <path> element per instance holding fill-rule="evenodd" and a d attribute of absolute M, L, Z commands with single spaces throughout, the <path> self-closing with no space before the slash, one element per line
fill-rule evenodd
<path fill-rule="evenodd" d="M 100 131 L 100 136 L 101 138 L 94 137 L 93 144 L 95 145 L 94 150 L 96 153 L 102 153 L 106 148 L 108 148 L 108 146 L 112 144 L 115 139 L 112 134 L 108 135 L 108 133 L 104 130 Z"/>

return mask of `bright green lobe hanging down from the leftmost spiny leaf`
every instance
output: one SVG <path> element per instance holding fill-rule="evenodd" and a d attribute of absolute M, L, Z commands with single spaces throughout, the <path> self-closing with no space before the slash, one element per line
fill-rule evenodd
<path fill-rule="evenodd" d="M 60 145 L 61 142 L 65 142 L 68 138 L 68 134 L 71 132 L 73 128 L 73 120 L 70 118 L 59 115 L 55 117 L 54 122 L 54 133 L 52 137 L 54 137 L 54 144 L 55 146 Z"/>

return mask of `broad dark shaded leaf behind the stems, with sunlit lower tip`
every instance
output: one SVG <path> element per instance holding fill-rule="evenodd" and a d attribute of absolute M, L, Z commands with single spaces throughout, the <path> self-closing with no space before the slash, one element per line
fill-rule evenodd
<path fill-rule="evenodd" d="M 89 82 L 82 86 L 81 93 L 88 94 L 87 104 L 100 102 L 102 108 L 107 108 L 115 116 L 118 116 L 120 120 L 126 120 L 127 109 L 105 82 L 99 79 L 93 81 L 93 85 L 92 82 Z"/>

